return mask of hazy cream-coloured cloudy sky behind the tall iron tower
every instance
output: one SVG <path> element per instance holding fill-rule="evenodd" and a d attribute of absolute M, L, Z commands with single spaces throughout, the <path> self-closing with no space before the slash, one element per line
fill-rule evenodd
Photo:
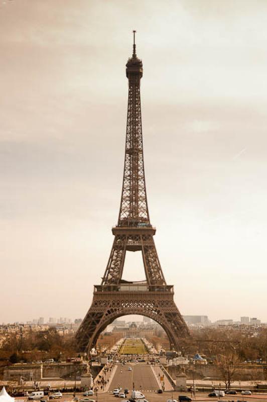
<path fill-rule="evenodd" d="M 267 2 L 0 0 L 0 323 L 83 317 L 116 224 L 131 30 L 182 314 L 267 321 Z M 140 253 L 125 279 L 143 279 Z"/>

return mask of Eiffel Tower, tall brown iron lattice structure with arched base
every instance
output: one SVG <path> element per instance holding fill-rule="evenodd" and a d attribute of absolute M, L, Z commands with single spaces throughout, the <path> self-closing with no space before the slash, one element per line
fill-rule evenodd
<path fill-rule="evenodd" d="M 128 109 L 118 223 L 112 228 L 114 241 L 101 285 L 94 286 L 92 305 L 76 333 L 78 350 L 84 352 L 96 345 L 107 325 L 129 314 L 147 316 L 159 323 L 175 350 L 179 338 L 189 336 L 173 299 L 173 285 L 167 285 L 164 278 L 153 238 L 156 229 L 149 218 L 140 99 L 143 63 L 136 54 L 135 33 L 132 57 L 126 64 Z M 121 279 L 126 251 L 142 251 L 146 281 Z"/>

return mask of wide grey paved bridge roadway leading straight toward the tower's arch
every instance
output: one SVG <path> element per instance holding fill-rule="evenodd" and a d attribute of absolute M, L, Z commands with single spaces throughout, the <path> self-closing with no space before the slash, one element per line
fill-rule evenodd
<path fill-rule="evenodd" d="M 131 371 L 128 370 L 131 367 Z M 120 372 L 121 371 L 121 372 Z M 135 389 L 138 390 L 157 390 L 158 384 L 151 370 L 150 365 L 146 363 L 121 364 L 118 365 L 115 375 L 109 386 L 109 391 L 117 388 L 118 385 L 124 389 L 132 389 L 132 383 L 135 383 Z"/>

